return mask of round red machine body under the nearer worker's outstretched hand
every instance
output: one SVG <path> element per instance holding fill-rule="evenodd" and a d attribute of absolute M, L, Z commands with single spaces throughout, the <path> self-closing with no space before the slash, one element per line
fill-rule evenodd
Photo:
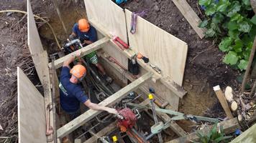
<path fill-rule="evenodd" d="M 124 119 L 118 119 L 118 126 L 119 127 L 125 127 L 126 129 L 132 129 L 134 124 L 137 122 L 137 117 L 132 112 L 132 109 L 124 108 L 119 110 L 119 114 L 124 117 Z"/>

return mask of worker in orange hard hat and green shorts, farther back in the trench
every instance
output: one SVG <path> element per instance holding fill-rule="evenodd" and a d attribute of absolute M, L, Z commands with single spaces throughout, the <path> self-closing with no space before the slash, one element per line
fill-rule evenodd
<path fill-rule="evenodd" d="M 83 46 L 87 46 L 88 44 L 92 44 L 94 41 L 97 40 L 97 32 L 96 29 L 91 26 L 86 19 L 79 19 L 78 23 L 73 26 L 73 32 L 70 34 L 69 39 L 80 39 Z M 86 57 L 89 59 L 91 64 L 95 64 L 96 67 L 101 72 L 104 79 L 107 82 L 111 83 L 111 77 L 106 75 L 106 71 L 104 70 L 103 66 L 98 61 L 98 57 L 96 55 L 96 51 L 87 54 Z"/>

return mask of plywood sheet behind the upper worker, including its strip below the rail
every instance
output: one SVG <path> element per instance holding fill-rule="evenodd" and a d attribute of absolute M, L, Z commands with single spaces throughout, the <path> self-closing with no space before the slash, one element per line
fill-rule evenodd
<path fill-rule="evenodd" d="M 122 8 L 111 0 L 85 0 L 84 2 L 88 19 L 96 29 L 102 27 L 108 34 L 119 36 L 120 39 L 127 43 L 127 27 Z M 98 32 L 98 38 L 100 39 L 101 37 Z M 111 47 L 111 44 L 106 44 L 104 51 L 111 54 L 120 64 L 128 68 L 128 59 Z"/>

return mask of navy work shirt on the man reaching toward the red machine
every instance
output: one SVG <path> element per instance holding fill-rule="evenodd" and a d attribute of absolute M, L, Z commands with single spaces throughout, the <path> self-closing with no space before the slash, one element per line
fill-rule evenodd
<path fill-rule="evenodd" d="M 84 103 L 88 97 L 80 84 L 73 84 L 69 81 L 70 69 L 63 66 L 60 74 L 60 106 L 65 112 L 76 112 L 80 108 L 80 102 Z"/>

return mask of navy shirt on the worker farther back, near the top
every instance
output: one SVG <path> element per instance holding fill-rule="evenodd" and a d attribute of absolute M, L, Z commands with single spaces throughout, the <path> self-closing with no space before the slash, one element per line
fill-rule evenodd
<path fill-rule="evenodd" d="M 73 26 L 73 32 L 78 36 L 80 41 L 83 43 L 84 40 L 88 40 L 91 42 L 97 41 L 97 32 L 96 29 L 90 25 L 90 29 L 88 32 L 82 32 L 78 28 L 78 24 Z"/>

